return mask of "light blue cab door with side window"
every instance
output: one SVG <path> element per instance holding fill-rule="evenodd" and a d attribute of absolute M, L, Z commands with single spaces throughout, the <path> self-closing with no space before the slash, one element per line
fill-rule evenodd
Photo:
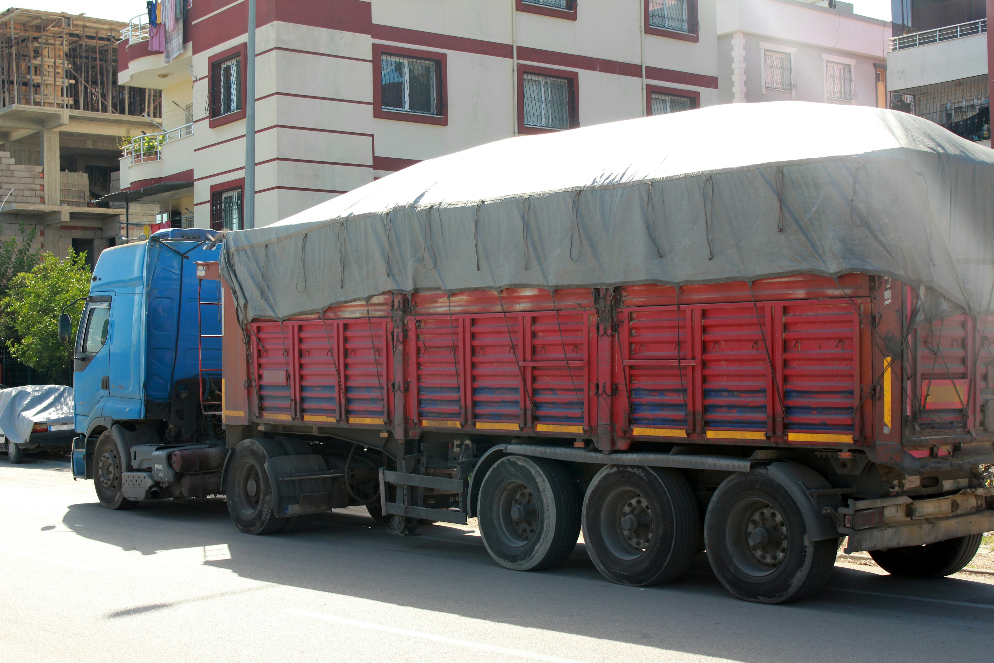
<path fill-rule="evenodd" d="M 110 295 L 91 295 L 80 320 L 73 362 L 77 430 L 84 429 L 93 408 L 109 393 L 109 331 Z"/>

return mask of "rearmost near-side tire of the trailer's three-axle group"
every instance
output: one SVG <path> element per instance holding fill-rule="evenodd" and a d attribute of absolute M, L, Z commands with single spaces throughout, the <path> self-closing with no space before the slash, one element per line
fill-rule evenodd
<path fill-rule="evenodd" d="M 811 541 L 793 498 L 761 470 L 733 474 L 718 487 L 704 537 L 718 580 L 757 603 L 786 603 L 818 590 L 839 543 L 835 537 Z"/>

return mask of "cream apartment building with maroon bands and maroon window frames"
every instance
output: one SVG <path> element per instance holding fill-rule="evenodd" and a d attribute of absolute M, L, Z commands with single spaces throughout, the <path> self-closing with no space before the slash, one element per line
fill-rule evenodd
<path fill-rule="evenodd" d="M 186 2 L 181 53 L 142 17 L 118 47 L 163 107 L 121 196 L 238 229 L 248 4 Z M 714 0 L 257 0 L 256 24 L 256 226 L 481 143 L 719 102 Z"/>

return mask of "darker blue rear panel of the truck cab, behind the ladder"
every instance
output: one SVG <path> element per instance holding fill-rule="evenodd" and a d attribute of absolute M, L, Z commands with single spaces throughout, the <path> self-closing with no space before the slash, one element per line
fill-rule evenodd
<path fill-rule="evenodd" d="M 157 403 L 169 401 L 177 381 L 194 378 L 200 372 L 196 263 L 215 261 L 221 254 L 220 246 L 209 249 L 209 245 L 198 246 L 196 242 L 167 242 L 168 247 L 161 242 L 149 243 L 145 399 Z M 217 281 L 205 280 L 201 299 L 217 301 L 218 286 Z M 203 315 L 203 332 L 220 334 L 220 307 L 205 306 Z M 220 368 L 221 339 L 205 339 L 204 345 L 205 368 Z"/>

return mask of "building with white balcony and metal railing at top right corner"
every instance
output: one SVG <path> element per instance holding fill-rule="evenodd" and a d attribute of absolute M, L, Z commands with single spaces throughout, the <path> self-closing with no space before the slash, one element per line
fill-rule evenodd
<path fill-rule="evenodd" d="M 892 16 L 889 107 L 989 147 L 994 49 L 984 0 L 894 0 Z"/>

